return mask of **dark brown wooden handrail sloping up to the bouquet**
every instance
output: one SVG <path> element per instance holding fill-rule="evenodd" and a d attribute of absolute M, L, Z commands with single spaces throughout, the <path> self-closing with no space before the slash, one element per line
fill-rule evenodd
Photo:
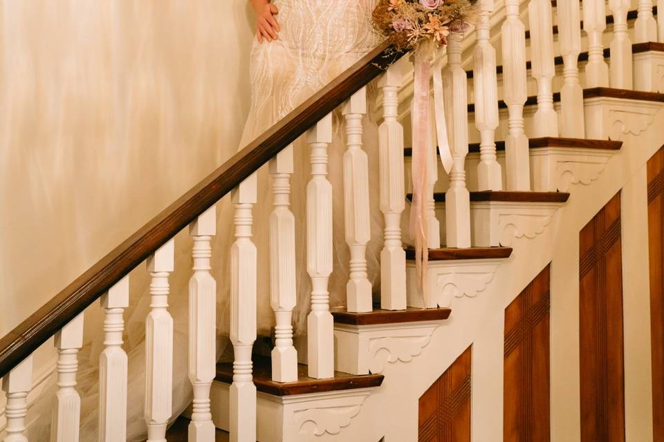
<path fill-rule="evenodd" d="M 0 338 L 0 377 L 30 356 L 39 345 L 100 298 L 151 253 L 402 55 L 391 50 L 387 44 L 381 44 L 369 52 Z"/>

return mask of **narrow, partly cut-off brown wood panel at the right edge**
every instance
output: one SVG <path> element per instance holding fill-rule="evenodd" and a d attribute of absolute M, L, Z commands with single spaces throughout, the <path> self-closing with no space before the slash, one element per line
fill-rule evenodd
<path fill-rule="evenodd" d="M 664 148 L 648 161 L 653 440 L 664 442 Z"/>

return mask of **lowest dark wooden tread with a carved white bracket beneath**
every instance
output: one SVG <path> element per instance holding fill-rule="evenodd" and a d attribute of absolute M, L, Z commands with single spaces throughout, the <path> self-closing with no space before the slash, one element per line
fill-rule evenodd
<path fill-rule="evenodd" d="M 315 379 L 307 376 L 307 366 L 297 364 L 297 381 L 279 383 L 272 380 L 272 361 L 265 356 L 252 356 L 253 377 L 256 390 L 274 396 L 292 396 L 294 394 L 334 392 L 356 388 L 378 387 L 382 384 L 382 374 L 354 375 L 335 372 L 333 378 Z M 233 364 L 218 363 L 215 381 L 233 382 Z"/>

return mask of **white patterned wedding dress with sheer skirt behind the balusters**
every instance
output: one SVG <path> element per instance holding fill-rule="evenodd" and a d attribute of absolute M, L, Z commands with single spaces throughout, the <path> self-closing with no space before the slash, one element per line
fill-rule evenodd
<path fill-rule="evenodd" d="M 313 93 L 354 64 L 378 45 L 371 27 L 371 12 L 376 0 L 275 0 L 279 8 L 277 20 L 281 26 L 279 39 L 258 44 L 255 40 L 250 58 L 251 106 L 240 147 L 261 135 L 279 119 L 288 115 Z M 222 24 L 220 23 L 220 26 Z M 221 55 L 220 55 L 221 56 Z M 367 108 L 374 107 L 376 87 L 368 87 Z M 369 111 L 371 112 L 371 111 Z M 349 278 L 349 250 L 344 236 L 343 117 L 333 113 L 333 142 L 329 145 L 328 178 L 333 187 L 333 273 L 329 281 L 330 305 L 345 305 L 346 282 Z M 369 198 L 371 204 L 371 240 L 367 247 L 367 273 L 378 293 L 380 268 L 378 257 L 382 247 L 383 219 L 378 201 L 378 128 L 372 115 L 363 122 L 363 148 L 369 157 Z M 223 148 L 223 147 L 222 147 Z M 230 157 L 230 148 L 223 157 Z M 306 316 L 310 308 L 311 281 L 306 273 L 306 183 L 311 177 L 309 148 L 304 137 L 294 144 L 294 173 L 291 178 L 291 209 L 295 215 L 295 253 L 297 264 L 297 307 L 293 312 L 295 334 L 306 331 Z M 269 291 L 269 228 L 272 210 L 272 191 L 267 167 L 258 172 L 258 204 L 253 209 L 253 238 L 258 253 L 257 324 L 259 336 L 269 336 L 275 325 L 270 307 Z M 227 195 L 216 205 L 217 235 L 212 244 L 212 276 L 219 294 L 217 324 L 218 354 L 232 358 L 228 341 L 229 331 L 229 273 L 230 246 L 234 242 L 232 225 L 234 207 Z M 173 416 L 179 416 L 191 403 L 192 393 L 187 378 L 188 361 L 188 296 L 187 285 L 192 274 L 192 241 L 187 231 L 176 236 L 175 271 L 169 278 L 169 311 L 174 318 Z M 129 359 L 127 398 L 127 441 L 146 439 L 147 427 L 143 416 L 145 396 L 145 318 L 149 313 L 149 274 L 145 266 L 131 272 L 131 302 L 127 311 L 124 349 Z M 91 317 L 88 316 L 89 312 Z M 82 397 L 81 441 L 97 440 L 98 428 L 98 361 L 103 349 L 100 324 L 103 312 L 95 305 L 86 310 L 86 336 L 93 336 L 79 355 L 80 369 L 77 390 Z M 94 327 L 94 328 L 93 328 Z M 54 375 L 55 376 L 55 375 Z M 31 423 L 30 440 L 48 440 L 50 407 L 55 395 L 55 377 L 48 382 L 42 396 L 31 409 L 31 416 L 42 419 Z M 46 399 L 48 398 L 48 400 Z"/>

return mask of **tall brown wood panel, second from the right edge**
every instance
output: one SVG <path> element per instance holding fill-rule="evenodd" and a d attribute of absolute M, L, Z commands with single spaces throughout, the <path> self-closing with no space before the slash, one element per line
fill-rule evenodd
<path fill-rule="evenodd" d="M 581 441 L 625 441 L 620 193 L 579 233 Z"/>

